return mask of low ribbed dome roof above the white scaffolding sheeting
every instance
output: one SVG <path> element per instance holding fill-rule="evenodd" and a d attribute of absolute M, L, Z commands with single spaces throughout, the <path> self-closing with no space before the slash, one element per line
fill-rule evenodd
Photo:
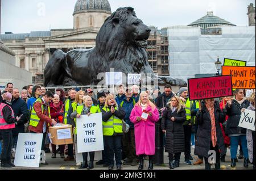
<path fill-rule="evenodd" d="M 214 16 L 213 12 L 207 12 L 207 15 L 203 16 L 200 19 L 197 19 L 195 22 L 188 24 L 188 26 L 200 26 L 201 28 L 213 27 L 213 26 L 236 26 L 233 23 L 226 21 L 218 16 Z"/>

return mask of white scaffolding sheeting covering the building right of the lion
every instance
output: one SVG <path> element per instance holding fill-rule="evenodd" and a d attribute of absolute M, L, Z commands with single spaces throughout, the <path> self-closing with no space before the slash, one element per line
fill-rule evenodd
<path fill-rule="evenodd" d="M 219 56 L 255 66 L 255 27 L 221 27 L 221 35 L 201 35 L 200 27 L 168 28 L 170 76 L 187 81 L 195 74 L 214 74 Z"/>

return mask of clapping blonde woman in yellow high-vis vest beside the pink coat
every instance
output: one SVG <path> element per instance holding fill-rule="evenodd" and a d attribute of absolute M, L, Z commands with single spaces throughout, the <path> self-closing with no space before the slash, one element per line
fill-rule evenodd
<path fill-rule="evenodd" d="M 122 119 L 125 111 L 118 109 L 114 95 L 106 97 L 105 106 L 102 108 L 102 125 L 104 137 L 104 149 L 108 160 L 109 170 L 114 168 L 114 155 L 117 170 L 122 169 Z"/>

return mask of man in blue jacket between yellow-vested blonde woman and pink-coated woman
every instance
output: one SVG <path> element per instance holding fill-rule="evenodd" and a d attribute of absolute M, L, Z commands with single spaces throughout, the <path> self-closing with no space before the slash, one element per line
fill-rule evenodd
<path fill-rule="evenodd" d="M 123 165 L 138 165 L 138 158 L 135 153 L 134 124 L 130 121 L 131 111 L 135 105 L 135 98 L 131 89 L 126 89 L 125 99 L 118 105 L 125 110 L 125 122 L 130 125 L 129 132 L 123 134 L 123 157 L 127 157 Z"/>

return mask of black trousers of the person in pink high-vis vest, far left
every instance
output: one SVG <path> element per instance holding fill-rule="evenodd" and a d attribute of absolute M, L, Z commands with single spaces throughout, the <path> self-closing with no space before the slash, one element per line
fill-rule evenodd
<path fill-rule="evenodd" d="M 13 147 L 13 132 L 11 129 L 0 130 L 0 137 L 3 139 L 1 163 L 11 162 L 11 148 Z"/>

